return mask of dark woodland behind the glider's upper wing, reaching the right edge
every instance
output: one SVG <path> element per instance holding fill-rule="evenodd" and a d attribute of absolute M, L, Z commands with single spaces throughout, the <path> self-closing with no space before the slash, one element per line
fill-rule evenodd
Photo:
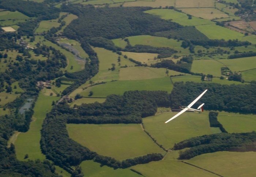
<path fill-rule="evenodd" d="M 171 93 L 171 107 L 188 105 L 205 89 L 207 93 L 195 104 L 201 103 L 205 109 L 239 113 L 256 113 L 256 82 L 240 85 L 221 85 L 217 83 L 176 82 Z"/>

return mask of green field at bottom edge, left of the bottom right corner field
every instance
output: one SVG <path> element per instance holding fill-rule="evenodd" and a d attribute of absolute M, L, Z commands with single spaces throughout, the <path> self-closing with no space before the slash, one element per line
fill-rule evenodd
<path fill-rule="evenodd" d="M 168 153 L 169 154 L 169 153 Z M 132 166 L 131 169 L 134 169 L 147 177 L 214 177 L 215 175 L 209 172 L 206 172 L 202 169 L 196 168 L 194 166 L 182 163 L 181 161 L 174 160 L 162 160 L 157 162 L 150 162 L 147 164 L 139 164 Z"/>

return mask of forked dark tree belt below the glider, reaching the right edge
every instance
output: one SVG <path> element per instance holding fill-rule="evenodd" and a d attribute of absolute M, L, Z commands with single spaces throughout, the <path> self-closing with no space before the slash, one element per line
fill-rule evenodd
<path fill-rule="evenodd" d="M 180 151 L 180 159 L 190 159 L 200 154 L 217 151 L 256 151 L 256 132 L 250 133 L 217 133 L 203 135 L 184 140 L 174 145 L 174 150 Z"/>

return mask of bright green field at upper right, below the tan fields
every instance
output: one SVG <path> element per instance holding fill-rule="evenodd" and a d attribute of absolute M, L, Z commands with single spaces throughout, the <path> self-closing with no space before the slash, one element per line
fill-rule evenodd
<path fill-rule="evenodd" d="M 238 33 L 237 31 L 233 31 L 214 24 L 196 26 L 196 29 L 199 30 L 201 33 L 205 34 L 210 39 L 241 40 L 242 37 L 244 36 L 243 34 Z"/>

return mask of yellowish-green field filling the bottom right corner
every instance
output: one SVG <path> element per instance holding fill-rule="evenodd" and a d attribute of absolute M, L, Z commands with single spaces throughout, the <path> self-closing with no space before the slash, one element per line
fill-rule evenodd
<path fill-rule="evenodd" d="M 186 162 L 221 176 L 255 176 L 256 152 L 214 152 L 196 156 Z"/>

